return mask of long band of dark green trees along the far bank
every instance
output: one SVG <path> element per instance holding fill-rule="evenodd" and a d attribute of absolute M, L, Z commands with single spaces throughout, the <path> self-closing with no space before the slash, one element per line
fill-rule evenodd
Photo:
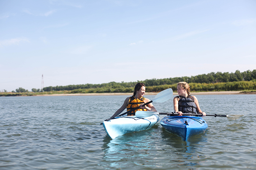
<path fill-rule="evenodd" d="M 217 90 L 220 88 L 215 87 L 214 84 L 216 83 L 228 83 L 228 82 L 242 82 L 242 81 L 251 81 L 256 80 L 256 70 L 250 71 L 244 71 L 240 72 L 237 70 L 235 73 L 208 73 L 208 74 L 200 74 L 198 76 L 191 76 L 191 77 L 174 77 L 174 78 L 165 78 L 165 79 L 146 79 L 143 81 L 137 81 L 137 82 L 110 82 L 110 83 L 102 83 L 102 84 L 81 84 L 81 85 L 67 85 L 67 86 L 49 86 L 43 88 L 43 91 L 63 91 L 63 90 L 71 90 L 74 91 L 74 93 L 81 93 L 83 91 L 84 93 L 115 93 L 115 92 L 121 92 L 121 93 L 128 93 L 130 91 L 133 91 L 133 88 L 138 82 L 144 83 L 146 87 L 153 87 L 153 86 L 161 86 L 161 85 L 176 85 L 178 82 L 187 82 L 189 84 L 191 83 L 203 83 L 203 84 L 210 84 L 210 87 L 207 86 L 207 88 L 196 88 L 196 91 L 201 91 L 199 89 L 204 89 L 203 91 L 212 91 Z M 239 83 L 239 84 L 240 84 Z M 200 86 L 200 85 L 198 85 Z M 243 86 L 243 85 L 242 85 Z M 191 87 L 191 85 L 190 85 Z M 215 87 L 215 88 L 211 88 Z M 233 87 L 234 89 L 240 89 Z M 175 87 L 176 89 L 176 87 Z M 223 88 L 222 88 L 223 89 Z M 193 88 L 194 90 L 194 88 Z M 104 91 L 104 92 L 103 92 Z"/>

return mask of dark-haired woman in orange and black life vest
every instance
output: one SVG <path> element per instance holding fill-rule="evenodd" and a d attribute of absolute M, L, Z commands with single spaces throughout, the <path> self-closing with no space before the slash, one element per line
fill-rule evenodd
<path fill-rule="evenodd" d="M 143 83 L 137 83 L 134 87 L 133 96 L 127 97 L 124 100 L 124 104 L 116 111 L 116 113 L 113 114 L 113 116 L 111 116 L 109 119 L 107 119 L 105 121 L 109 121 L 110 119 L 114 119 L 116 116 L 118 116 L 120 113 L 122 113 L 122 111 L 124 111 L 124 109 L 126 109 L 126 108 L 127 108 L 127 111 L 130 111 L 133 108 L 140 107 L 137 110 L 133 110 L 133 111 L 130 111 L 129 113 L 127 113 L 127 116 L 134 116 L 135 112 L 138 111 L 138 110 L 156 111 L 156 109 L 152 105 L 152 103 L 150 103 L 148 105 L 145 105 L 145 106 L 142 106 L 143 104 L 150 101 L 149 99 L 143 97 L 143 95 L 145 94 L 145 90 L 146 90 L 146 87 Z"/>

